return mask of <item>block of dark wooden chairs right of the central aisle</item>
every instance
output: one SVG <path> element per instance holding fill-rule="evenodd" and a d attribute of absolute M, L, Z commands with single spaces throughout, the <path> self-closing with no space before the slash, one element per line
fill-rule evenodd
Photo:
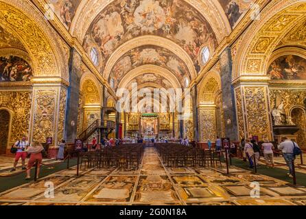
<path fill-rule="evenodd" d="M 163 163 L 171 167 L 222 167 L 222 151 L 197 149 L 181 144 L 156 144 Z"/>

